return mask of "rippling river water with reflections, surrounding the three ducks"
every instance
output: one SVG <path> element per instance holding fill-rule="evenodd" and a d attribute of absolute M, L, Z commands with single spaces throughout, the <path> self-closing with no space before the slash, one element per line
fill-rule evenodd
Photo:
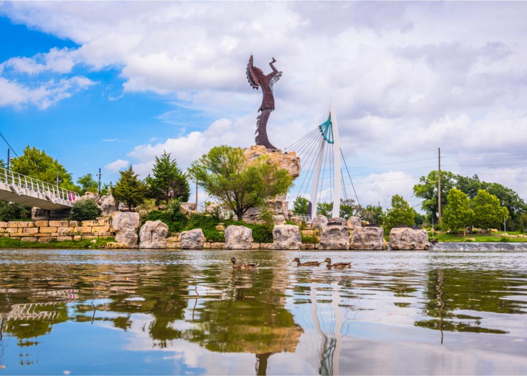
<path fill-rule="evenodd" d="M 526 313 L 527 252 L 0 250 L 0 375 L 525 374 Z"/>

